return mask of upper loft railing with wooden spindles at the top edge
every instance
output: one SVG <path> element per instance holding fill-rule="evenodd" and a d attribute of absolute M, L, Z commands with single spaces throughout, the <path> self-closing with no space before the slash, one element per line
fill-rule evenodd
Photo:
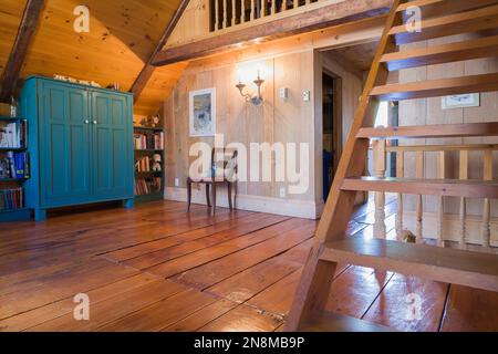
<path fill-rule="evenodd" d="M 323 0 L 210 0 L 210 32 L 269 18 Z"/>

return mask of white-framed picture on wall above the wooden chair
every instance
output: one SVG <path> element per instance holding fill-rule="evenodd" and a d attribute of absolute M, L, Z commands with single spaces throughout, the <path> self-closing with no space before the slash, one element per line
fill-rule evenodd
<path fill-rule="evenodd" d="M 190 136 L 216 134 L 216 88 L 191 91 L 189 94 Z"/>

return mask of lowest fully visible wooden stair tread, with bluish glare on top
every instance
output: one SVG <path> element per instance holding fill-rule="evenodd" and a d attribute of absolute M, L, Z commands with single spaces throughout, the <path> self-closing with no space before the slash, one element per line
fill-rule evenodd
<path fill-rule="evenodd" d="M 491 253 L 350 237 L 328 242 L 321 258 L 498 291 L 498 256 Z"/>

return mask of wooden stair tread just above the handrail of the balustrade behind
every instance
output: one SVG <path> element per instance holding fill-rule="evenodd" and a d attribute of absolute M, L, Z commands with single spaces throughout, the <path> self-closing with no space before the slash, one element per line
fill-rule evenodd
<path fill-rule="evenodd" d="M 443 138 L 498 136 L 498 122 L 435 124 L 421 126 L 364 127 L 356 134 L 357 138 Z"/>

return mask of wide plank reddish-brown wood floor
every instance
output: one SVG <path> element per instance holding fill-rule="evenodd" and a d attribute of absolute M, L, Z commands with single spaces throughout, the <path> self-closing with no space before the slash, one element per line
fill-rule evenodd
<path fill-rule="evenodd" d="M 0 331 L 281 331 L 317 221 L 158 201 L 0 229 Z M 386 205 L 395 238 L 394 200 Z M 373 206 L 351 235 L 372 237 Z M 75 321 L 75 294 L 90 321 Z M 409 294 L 422 300 L 409 319 Z M 400 331 L 498 331 L 498 294 L 341 264 L 329 310 Z"/>

